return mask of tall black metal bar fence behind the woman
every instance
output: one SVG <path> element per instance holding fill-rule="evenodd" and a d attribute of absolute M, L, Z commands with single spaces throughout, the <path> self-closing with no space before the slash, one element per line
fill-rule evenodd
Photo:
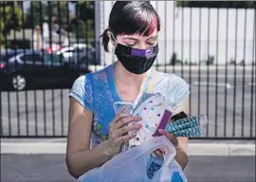
<path fill-rule="evenodd" d="M 190 114 L 209 118 L 204 138 L 255 139 L 256 9 L 151 2 L 163 27 L 155 67 L 191 85 Z M 116 59 L 99 40 L 113 3 L 1 2 L 0 73 L 20 70 L 0 77 L 1 137 L 66 137 L 72 82 Z"/>

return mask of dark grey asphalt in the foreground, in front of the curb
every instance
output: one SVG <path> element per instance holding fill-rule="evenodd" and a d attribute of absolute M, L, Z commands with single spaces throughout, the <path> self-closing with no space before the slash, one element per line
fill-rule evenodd
<path fill-rule="evenodd" d="M 72 182 L 64 155 L 1 155 L 1 182 Z M 190 182 L 255 182 L 255 156 L 191 156 Z"/>

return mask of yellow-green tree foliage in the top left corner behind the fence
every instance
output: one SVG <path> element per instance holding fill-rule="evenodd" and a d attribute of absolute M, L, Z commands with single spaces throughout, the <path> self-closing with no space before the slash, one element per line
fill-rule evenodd
<path fill-rule="evenodd" d="M 0 32 L 7 35 L 10 30 L 19 30 L 22 25 L 22 10 L 14 2 L 0 2 Z"/>

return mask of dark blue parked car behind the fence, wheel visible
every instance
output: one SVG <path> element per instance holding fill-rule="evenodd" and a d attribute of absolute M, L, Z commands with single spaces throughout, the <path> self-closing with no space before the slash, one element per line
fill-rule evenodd
<path fill-rule="evenodd" d="M 91 72 L 86 64 L 68 62 L 46 51 L 28 50 L 17 54 L 0 68 L 1 89 L 70 88 L 82 74 Z"/>

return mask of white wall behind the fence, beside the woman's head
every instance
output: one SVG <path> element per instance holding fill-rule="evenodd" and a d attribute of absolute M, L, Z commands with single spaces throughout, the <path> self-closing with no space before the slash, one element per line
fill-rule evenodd
<path fill-rule="evenodd" d="M 214 56 L 214 62 L 218 62 L 218 64 L 229 63 L 231 59 L 236 60 L 239 64 L 244 60 L 244 56 L 246 64 L 251 64 L 255 58 L 255 50 L 253 51 L 253 26 L 255 27 L 254 22 L 256 21 L 254 9 L 247 9 L 247 12 L 245 9 L 237 10 L 236 28 L 236 9 L 219 9 L 219 20 L 217 20 L 217 9 L 210 9 L 210 17 L 209 9 L 201 9 L 200 24 L 200 10 L 197 8 L 176 8 L 174 1 L 151 1 L 151 3 L 161 18 L 162 30 L 159 34 L 158 64 L 169 63 L 173 52 L 176 52 L 178 59 L 193 63 L 206 60 L 208 55 Z M 101 1 L 101 32 L 108 25 L 109 13 L 113 4 L 114 1 Z M 227 13 L 229 13 L 228 20 Z M 247 19 L 245 19 L 246 13 Z M 182 14 L 184 15 L 183 18 Z M 219 23 L 218 29 L 217 22 Z M 210 36 L 208 34 L 209 24 Z M 200 26 L 201 33 L 199 35 Z M 199 41 L 199 36 L 201 41 Z M 246 44 L 244 44 L 245 37 Z M 228 50 L 226 48 L 227 42 Z M 199 44 L 201 45 L 200 52 Z M 216 48 L 217 45 L 218 48 Z M 254 43 L 254 49 L 255 47 Z M 244 48 L 246 50 L 245 55 Z M 101 51 L 101 59 L 106 64 L 110 64 L 116 58 L 112 52 L 104 53 Z"/>

